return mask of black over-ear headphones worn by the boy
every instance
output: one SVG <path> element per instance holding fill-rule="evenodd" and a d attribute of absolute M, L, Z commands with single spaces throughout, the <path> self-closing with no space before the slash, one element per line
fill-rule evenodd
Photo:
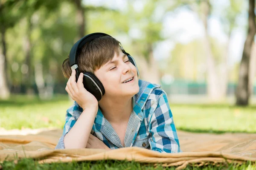
<path fill-rule="evenodd" d="M 70 62 L 71 70 L 76 70 L 76 82 L 78 80 L 79 74 L 81 73 L 79 71 L 78 64 L 77 64 L 78 63 L 77 58 L 78 58 L 78 55 L 79 55 L 81 49 L 83 48 L 85 43 L 93 41 L 94 39 L 103 37 L 103 36 L 110 36 L 110 35 L 105 34 L 105 33 L 100 33 L 100 32 L 88 34 L 88 35 L 84 36 L 83 38 L 81 38 L 80 40 L 78 40 L 71 48 L 70 55 L 69 55 L 69 62 Z M 139 77 L 140 73 L 139 73 L 139 70 L 138 70 L 138 67 L 136 65 L 134 58 L 131 57 L 130 54 L 125 52 L 121 43 L 119 43 L 119 46 L 120 46 L 122 52 L 128 56 L 129 61 L 136 67 L 137 74 Z M 90 57 L 90 56 L 87 56 L 87 57 Z M 83 72 L 83 74 L 84 74 L 84 77 L 83 77 L 84 88 L 87 91 L 89 91 L 91 94 L 93 94 L 93 96 L 95 96 L 95 98 L 99 102 L 102 99 L 102 96 L 105 94 L 105 89 L 104 89 L 102 83 L 99 81 L 99 79 L 94 74 L 92 74 L 90 72 Z"/>

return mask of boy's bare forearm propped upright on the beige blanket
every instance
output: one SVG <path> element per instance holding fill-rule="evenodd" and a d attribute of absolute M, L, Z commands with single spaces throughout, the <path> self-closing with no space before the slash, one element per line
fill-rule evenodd
<path fill-rule="evenodd" d="M 86 147 L 97 111 L 98 108 L 87 108 L 81 113 L 75 125 L 64 137 L 66 149 Z"/>

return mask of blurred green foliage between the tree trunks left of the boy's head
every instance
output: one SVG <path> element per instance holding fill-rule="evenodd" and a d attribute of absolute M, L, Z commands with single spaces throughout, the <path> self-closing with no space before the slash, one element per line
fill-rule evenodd
<path fill-rule="evenodd" d="M 60 1 L 58 1 L 60 2 Z M 11 71 L 12 82 L 15 85 L 21 84 L 23 74 L 21 65 L 25 59 L 24 37 L 28 34 L 28 21 L 31 21 L 32 30 L 29 32 L 32 46 L 30 48 L 32 62 L 29 67 L 34 70 L 36 63 L 43 65 L 45 76 L 56 72 L 56 82 L 65 82 L 61 74 L 61 63 L 73 45 L 77 30 L 74 27 L 75 9 L 70 3 L 57 1 L 26 1 L 26 8 L 23 5 L 24 13 L 29 20 L 16 21 L 13 28 L 6 34 L 8 48 L 8 64 L 12 68 L 14 63 L 18 64 L 17 71 Z M 20 9 L 20 8 L 19 8 Z M 21 9 L 20 9 L 21 10 Z M 22 11 L 22 10 L 21 10 Z M 35 80 L 32 82 L 35 83 Z"/>

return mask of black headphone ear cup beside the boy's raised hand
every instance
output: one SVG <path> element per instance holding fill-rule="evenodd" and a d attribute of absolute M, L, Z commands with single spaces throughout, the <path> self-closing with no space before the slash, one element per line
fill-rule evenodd
<path fill-rule="evenodd" d="M 83 74 L 84 88 L 91 94 L 93 94 L 93 96 L 95 96 L 95 98 L 99 102 L 102 99 L 102 96 L 105 94 L 105 88 L 94 74 L 90 72 L 85 72 Z"/>

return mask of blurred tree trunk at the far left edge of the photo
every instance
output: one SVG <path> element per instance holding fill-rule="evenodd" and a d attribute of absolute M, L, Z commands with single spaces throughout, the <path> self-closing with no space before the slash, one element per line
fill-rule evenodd
<path fill-rule="evenodd" d="M 10 89 L 8 83 L 8 74 L 7 74 L 7 57 L 6 57 L 6 40 L 5 33 L 6 29 L 2 25 L 1 37 L 2 37 L 2 49 L 0 49 L 0 98 L 8 99 L 10 96 Z"/>

